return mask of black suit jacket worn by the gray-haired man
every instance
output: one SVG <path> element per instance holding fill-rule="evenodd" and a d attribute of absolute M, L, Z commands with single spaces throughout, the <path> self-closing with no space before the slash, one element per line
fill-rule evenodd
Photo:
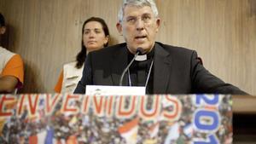
<path fill-rule="evenodd" d="M 90 52 L 85 60 L 83 77 L 74 93 L 84 94 L 86 85 L 119 85 L 128 64 L 127 55 L 126 43 Z M 153 77 L 150 76 L 153 79 L 149 80 L 149 86 L 153 84 L 153 93 L 247 95 L 212 75 L 197 58 L 195 50 L 155 43 Z M 125 78 L 124 85 L 127 84 Z"/>

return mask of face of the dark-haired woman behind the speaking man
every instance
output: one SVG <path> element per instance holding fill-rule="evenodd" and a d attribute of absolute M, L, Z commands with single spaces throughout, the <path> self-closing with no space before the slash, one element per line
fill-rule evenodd
<path fill-rule="evenodd" d="M 108 36 L 102 28 L 102 24 L 97 21 L 90 21 L 84 26 L 83 43 L 87 52 L 102 49 L 108 43 Z"/>

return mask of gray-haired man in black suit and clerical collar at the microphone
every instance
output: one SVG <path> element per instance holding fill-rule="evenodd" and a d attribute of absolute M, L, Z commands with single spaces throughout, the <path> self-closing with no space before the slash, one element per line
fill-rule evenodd
<path fill-rule="evenodd" d="M 195 50 L 155 42 L 160 17 L 154 0 L 124 0 L 118 16 L 125 43 L 91 52 L 74 93 L 84 94 L 86 85 L 119 85 L 136 55 L 121 83 L 144 86 L 146 94 L 246 94 L 208 72 Z"/>

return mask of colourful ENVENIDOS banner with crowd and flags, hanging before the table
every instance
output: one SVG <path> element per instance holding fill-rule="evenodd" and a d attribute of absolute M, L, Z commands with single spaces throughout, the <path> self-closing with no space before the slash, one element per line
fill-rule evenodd
<path fill-rule="evenodd" d="M 0 95 L 0 143 L 232 143 L 231 95 Z"/>

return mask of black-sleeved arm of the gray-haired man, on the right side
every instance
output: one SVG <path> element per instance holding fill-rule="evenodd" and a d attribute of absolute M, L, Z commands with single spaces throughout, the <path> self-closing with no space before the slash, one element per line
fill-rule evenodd
<path fill-rule="evenodd" d="M 223 80 L 208 72 L 201 65 L 201 61 L 197 59 L 195 51 L 191 55 L 191 78 L 194 93 L 248 95 L 236 86 L 226 84 Z"/>

